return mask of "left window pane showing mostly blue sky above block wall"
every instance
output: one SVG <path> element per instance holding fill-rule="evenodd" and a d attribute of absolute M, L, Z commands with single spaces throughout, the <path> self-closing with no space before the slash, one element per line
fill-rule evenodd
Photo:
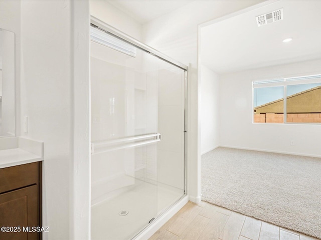
<path fill-rule="evenodd" d="M 253 112 L 256 123 L 283 123 L 283 86 L 253 89 Z"/>

